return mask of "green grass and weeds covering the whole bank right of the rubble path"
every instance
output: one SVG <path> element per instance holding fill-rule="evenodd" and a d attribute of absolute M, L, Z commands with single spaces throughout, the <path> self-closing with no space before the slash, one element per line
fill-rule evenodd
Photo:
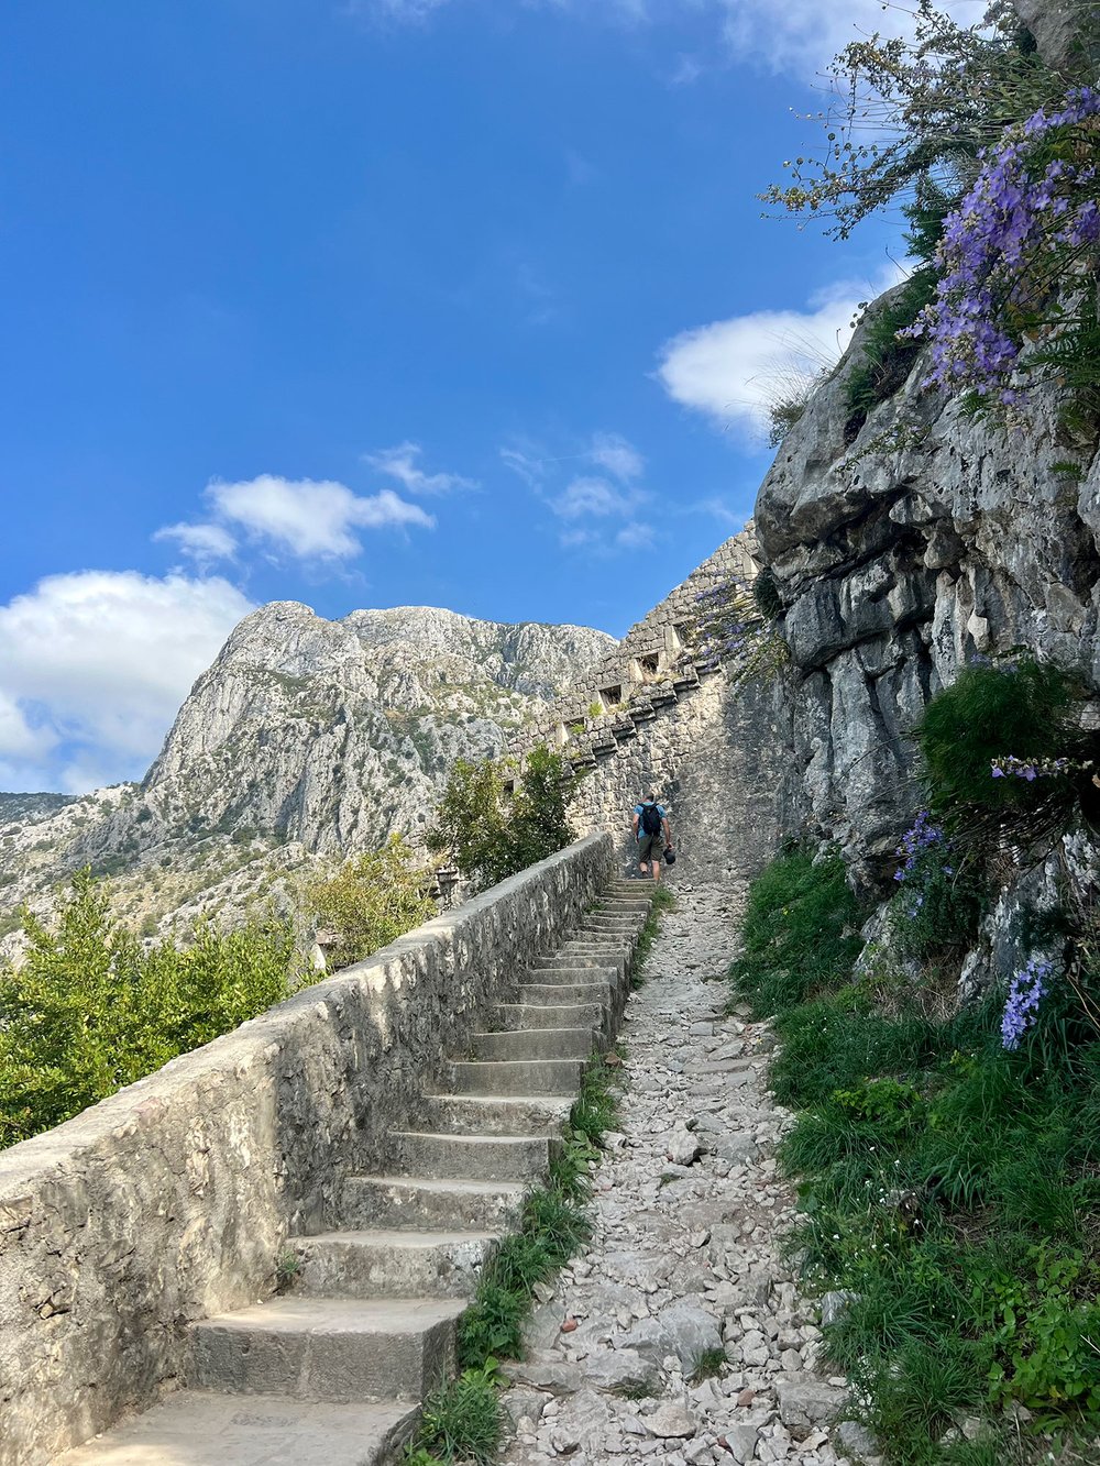
<path fill-rule="evenodd" d="M 1100 1034 L 1072 992 L 1015 1053 L 999 992 L 939 1019 L 920 990 L 881 1012 L 829 916 L 837 874 L 774 862 L 733 968 L 774 1016 L 771 1079 L 796 1111 L 792 1255 L 810 1286 L 854 1294 L 826 1356 L 890 1466 L 1025 1466 L 1052 1443 L 1066 1466 L 1097 1460 Z M 1088 962 L 1079 982 L 1100 990 Z M 955 1438 L 972 1418 L 984 1434 Z"/>

